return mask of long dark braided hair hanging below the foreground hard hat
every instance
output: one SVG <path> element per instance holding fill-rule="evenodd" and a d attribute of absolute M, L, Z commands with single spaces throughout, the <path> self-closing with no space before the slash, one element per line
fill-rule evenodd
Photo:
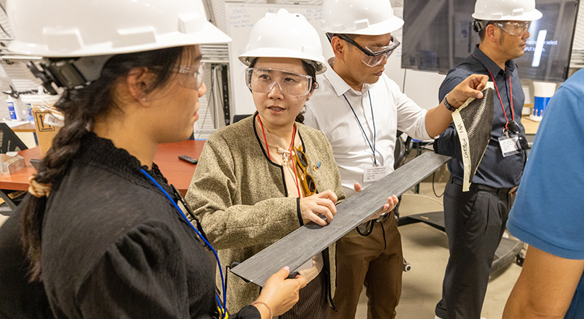
<path fill-rule="evenodd" d="M 55 107 L 64 115 L 64 126 L 52 140 L 52 148 L 42 159 L 36 181 L 41 184 L 58 183 L 69 169 L 81 148 L 81 138 L 88 132 L 98 116 L 104 116 L 118 108 L 113 99 L 113 88 L 130 70 L 146 67 L 157 74 L 156 80 L 144 93 L 164 86 L 171 78 L 172 70 L 181 61 L 185 47 L 170 47 L 146 52 L 134 52 L 111 57 L 96 81 L 81 89 L 69 89 Z M 28 196 L 23 201 L 21 240 L 30 259 L 30 281 L 39 281 L 41 274 L 42 219 L 45 216 L 47 197 Z"/>

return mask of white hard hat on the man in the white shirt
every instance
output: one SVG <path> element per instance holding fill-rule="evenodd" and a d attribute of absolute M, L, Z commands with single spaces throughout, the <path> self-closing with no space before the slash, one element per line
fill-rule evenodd
<path fill-rule="evenodd" d="M 324 0 L 322 30 L 326 33 L 382 35 L 403 26 L 389 0 Z"/>

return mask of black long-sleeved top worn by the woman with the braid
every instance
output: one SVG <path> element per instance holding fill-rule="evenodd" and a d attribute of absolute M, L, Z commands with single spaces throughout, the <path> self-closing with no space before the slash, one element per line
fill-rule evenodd
<path fill-rule="evenodd" d="M 42 225 L 57 318 L 212 318 L 213 262 L 139 161 L 88 133 Z M 148 172 L 172 194 L 156 165 Z M 176 198 L 175 198 L 176 199 Z M 260 318 L 247 306 L 230 318 Z"/>

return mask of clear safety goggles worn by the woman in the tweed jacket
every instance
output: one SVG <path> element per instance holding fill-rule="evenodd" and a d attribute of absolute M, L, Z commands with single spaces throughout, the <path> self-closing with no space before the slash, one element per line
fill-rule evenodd
<path fill-rule="evenodd" d="M 313 79 L 309 75 L 290 72 L 282 69 L 246 69 L 246 84 L 251 91 L 268 93 L 275 85 L 282 94 L 288 96 L 305 96 L 312 89 Z"/>

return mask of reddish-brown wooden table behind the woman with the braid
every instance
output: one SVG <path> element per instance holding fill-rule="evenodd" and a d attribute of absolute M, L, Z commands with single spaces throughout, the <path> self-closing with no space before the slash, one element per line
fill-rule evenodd
<path fill-rule="evenodd" d="M 197 165 L 189 164 L 178 159 L 180 155 L 188 155 L 198 159 L 201 155 L 204 140 L 185 140 L 177 143 L 161 144 L 158 147 L 154 162 L 159 166 L 162 174 L 184 195 L 193 178 L 193 172 Z M 24 157 L 26 167 L 12 175 L 0 175 L 0 189 L 26 191 L 28 189 L 28 177 L 37 171 L 30 164 L 30 159 L 40 159 L 38 147 L 23 150 L 18 153 Z"/>

